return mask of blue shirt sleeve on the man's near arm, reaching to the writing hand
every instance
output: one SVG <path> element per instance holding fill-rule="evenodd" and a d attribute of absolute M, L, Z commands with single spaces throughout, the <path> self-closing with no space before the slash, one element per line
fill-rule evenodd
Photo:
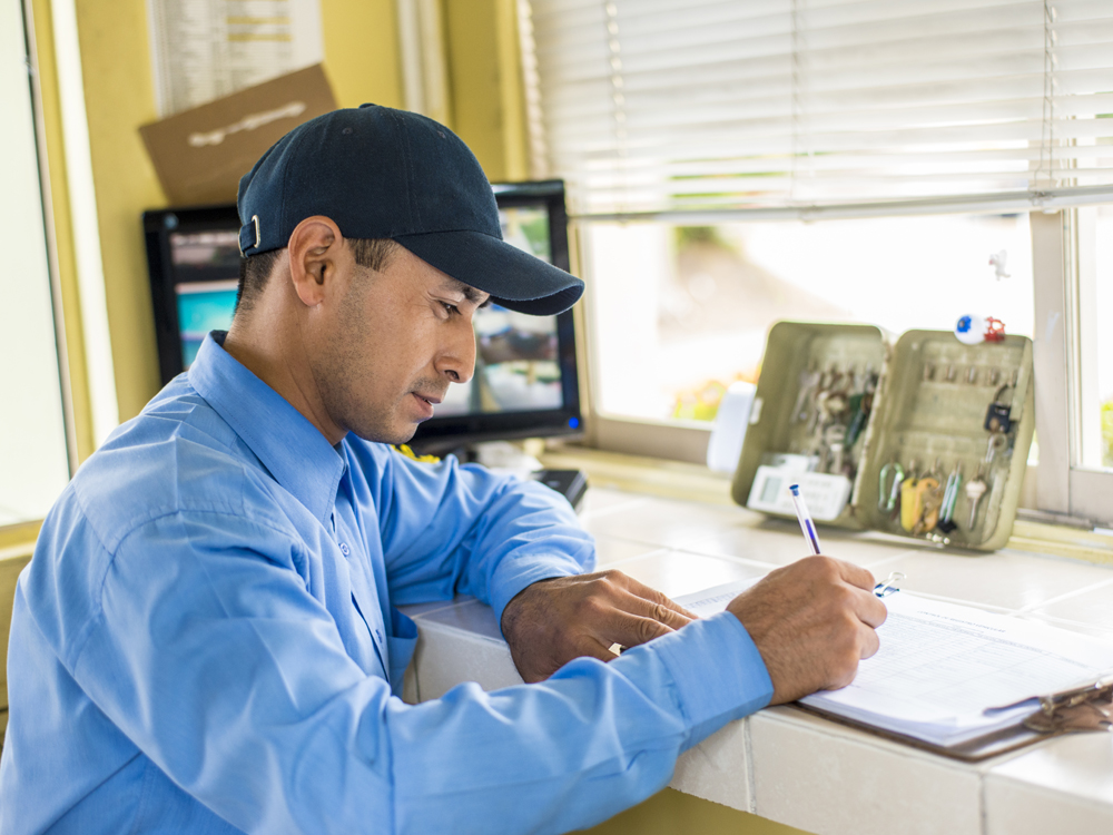
<path fill-rule="evenodd" d="M 771 695 L 728 613 L 544 684 L 405 705 L 345 655 L 296 548 L 232 514 L 146 522 L 116 550 L 66 659 L 175 784 L 248 833 L 590 826 L 659 790 L 679 753 Z"/>

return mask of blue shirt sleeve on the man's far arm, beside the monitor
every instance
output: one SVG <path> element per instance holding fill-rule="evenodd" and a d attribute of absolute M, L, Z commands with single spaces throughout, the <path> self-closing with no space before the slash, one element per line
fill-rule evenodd
<path fill-rule="evenodd" d="M 395 605 L 474 595 L 501 622 L 526 586 L 594 568 L 591 536 L 543 484 L 453 456 L 431 464 L 361 442 L 352 450 L 372 482 Z"/>

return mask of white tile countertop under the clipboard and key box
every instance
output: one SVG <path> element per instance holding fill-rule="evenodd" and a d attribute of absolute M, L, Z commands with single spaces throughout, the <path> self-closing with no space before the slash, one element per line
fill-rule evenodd
<path fill-rule="evenodd" d="M 679 597 L 757 577 L 805 556 L 795 521 L 742 508 L 592 488 L 580 513 L 600 568 Z M 821 529 L 824 551 L 917 593 L 1113 640 L 1113 567 L 1004 550 L 940 551 L 894 537 Z M 462 681 L 520 684 L 492 611 L 474 601 L 408 607 L 421 640 L 412 700 Z M 976 764 L 769 708 L 679 762 L 672 787 L 827 833 L 1027 835 L 1113 832 L 1113 734 L 1062 737 Z"/>

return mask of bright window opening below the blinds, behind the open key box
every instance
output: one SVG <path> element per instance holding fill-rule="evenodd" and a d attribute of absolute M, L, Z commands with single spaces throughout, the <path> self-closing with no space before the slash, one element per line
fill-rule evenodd
<path fill-rule="evenodd" d="M 585 272 L 607 277 L 592 286 L 589 337 L 607 415 L 711 420 L 726 386 L 757 380 L 778 320 L 860 322 L 897 335 L 951 330 L 979 313 L 1033 334 L 1027 213 L 597 223 L 583 237 Z M 999 253 L 1008 277 L 989 264 Z"/>

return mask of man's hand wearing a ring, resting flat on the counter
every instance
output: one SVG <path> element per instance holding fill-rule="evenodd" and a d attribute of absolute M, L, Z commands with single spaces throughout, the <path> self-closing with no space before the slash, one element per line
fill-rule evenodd
<path fill-rule="evenodd" d="M 502 633 L 526 681 L 542 681 L 573 658 L 617 658 L 696 618 L 621 571 L 558 577 L 519 592 L 502 612 Z"/>

